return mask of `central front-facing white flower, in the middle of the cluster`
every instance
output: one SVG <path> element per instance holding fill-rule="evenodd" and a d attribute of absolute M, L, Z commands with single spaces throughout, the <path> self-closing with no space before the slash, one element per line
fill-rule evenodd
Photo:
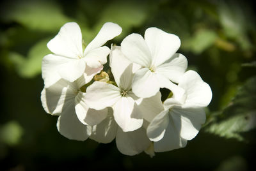
<path fill-rule="evenodd" d="M 132 93 L 133 65 L 125 60 L 120 47 L 114 47 L 110 54 L 110 66 L 117 87 L 106 82 L 93 82 L 87 88 L 85 101 L 88 107 L 96 110 L 112 107 L 116 123 L 127 132 L 140 128 L 143 117 L 154 118 L 163 110 L 163 105 L 160 93 L 143 100 Z"/>

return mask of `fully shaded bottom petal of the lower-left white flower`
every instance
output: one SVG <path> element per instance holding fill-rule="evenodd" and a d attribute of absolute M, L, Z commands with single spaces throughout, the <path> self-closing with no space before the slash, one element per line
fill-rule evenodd
<path fill-rule="evenodd" d="M 58 117 L 57 128 L 61 135 L 70 140 L 84 141 L 90 135 L 87 127 L 76 116 L 74 102 L 65 108 Z"/>

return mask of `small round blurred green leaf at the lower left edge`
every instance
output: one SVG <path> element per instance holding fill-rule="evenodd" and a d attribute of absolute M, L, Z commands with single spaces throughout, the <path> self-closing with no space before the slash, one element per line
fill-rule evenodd
<path fill-rule="evenodd" d="M 23 129 L 16 121 L 10 121 L 0 128 L 0 140 L 8 145 L 17 145 L 22 134 Z"/>

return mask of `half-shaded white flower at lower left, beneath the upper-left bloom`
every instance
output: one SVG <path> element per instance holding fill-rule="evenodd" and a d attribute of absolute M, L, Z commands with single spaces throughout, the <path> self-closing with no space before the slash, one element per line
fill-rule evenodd
<path fill-rule="evenodd" d="M 81 87 L 85 83 L 82 76 L 75 82 L 60 79 L 55 84 L 43 89 L 42 105 L 45 112 L 58 117 L 57 128 L 61 135 L 72 140 L 86 140 L 90 135 L 88 125 L 98 124 L 108 114 L 107 109 L 94 110 L 84 103 Z"/>

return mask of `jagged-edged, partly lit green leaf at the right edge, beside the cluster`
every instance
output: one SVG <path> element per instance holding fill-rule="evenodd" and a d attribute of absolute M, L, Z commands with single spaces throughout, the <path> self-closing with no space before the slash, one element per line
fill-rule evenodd
<path fill-rule="evenodd" d="M 256 77 L 250 78 L 237 91 L 216 121 L 205 131 L 220 137 L 244 140 L 241 133 L 256 128 Z"/>

